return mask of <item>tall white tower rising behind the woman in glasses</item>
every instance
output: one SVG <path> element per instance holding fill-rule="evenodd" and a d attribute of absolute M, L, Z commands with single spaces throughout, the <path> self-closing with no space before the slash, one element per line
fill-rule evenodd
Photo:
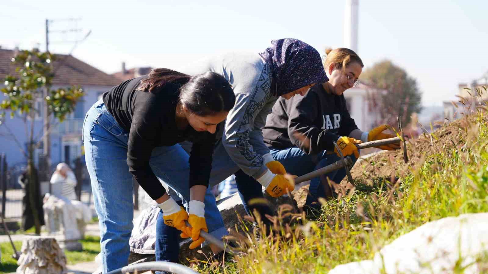
<path fill-rule="evenodd" d="M 359 0 L 346 0 L 344 16 L 344 47 L 358 53 L 358 8 Z"/>

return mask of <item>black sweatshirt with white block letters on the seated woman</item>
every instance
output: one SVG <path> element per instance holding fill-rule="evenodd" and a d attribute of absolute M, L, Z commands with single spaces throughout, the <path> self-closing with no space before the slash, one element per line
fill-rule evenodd
<path fill-rule="evenodd" d="M 297 146 L 307 154 L 318 154 L 334 150 L 333 141 L 357 128 L 344 95 L 327 93 L 316 84 L 303 97 L 279 98 L 266 117 L 263 137 L 269 147 Z"/>

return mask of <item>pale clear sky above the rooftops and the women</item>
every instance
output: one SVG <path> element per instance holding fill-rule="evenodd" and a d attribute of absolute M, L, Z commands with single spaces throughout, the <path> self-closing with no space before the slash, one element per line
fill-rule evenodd
<path fill-rule="evenodd" d="M 134 66 L 178 69 L 228 51 L 264 50 L 272 39 L 297 38 L 321 54 L 343 46 L 345 0 L 322 1 L 8 1 L 0 8 L 2 48 L 45 49 L 79 39 L 73 55 L 107 73 Z M 416 78 L 423 104 L 455 98 L 459 82 L 488 71 L 488 1 L 359 0 L 358 54 L 366 68 L 390 59 Z M 67 53 L 69 43 L 50 50 Z"/>

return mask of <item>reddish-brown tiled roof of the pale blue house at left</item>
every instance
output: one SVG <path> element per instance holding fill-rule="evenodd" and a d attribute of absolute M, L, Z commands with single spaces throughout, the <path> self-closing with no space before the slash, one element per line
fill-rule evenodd
<path fill-rule="evenodd" d="M 7 74 L 16 75 L 15 68 L 11 59 L 14 57 L 13 50 L 0 49 L 0 80 Z M 90 66 L 89 64 L 74 58 L 71 55 L 57 54 L 54 62 L 56 70 L 53 84 L 55 85 L 97 85 L 115 86 L 121 80 Z M 61 66 L 61 67 L 59 67 Z"/>

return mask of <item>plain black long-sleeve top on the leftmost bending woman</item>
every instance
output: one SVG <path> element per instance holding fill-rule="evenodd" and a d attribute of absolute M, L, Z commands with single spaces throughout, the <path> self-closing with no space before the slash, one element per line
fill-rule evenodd
<path fill-rule="evenodd" d="M 137 91 L 146 76 L 126 80 L 103 94 L 107 110 L 126 132 L 127 165 L 142 189 L 153 199 L 166 192 L 149 166 L 152 150 L 184 140 L 193 142 L 189 186 L 208 186 L 215 134 L 197 132 L 191 126 L 178 130 L 175 120 L 180 84 L 167 83 L 152 92 Z"/>

